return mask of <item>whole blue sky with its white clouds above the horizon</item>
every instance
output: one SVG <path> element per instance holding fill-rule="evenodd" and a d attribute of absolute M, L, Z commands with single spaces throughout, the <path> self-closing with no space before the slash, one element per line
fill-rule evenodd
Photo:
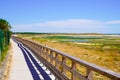
<path fill-rule="evenodd" d="M 14 32 L 120 33 L 120 0 L 1 0 Z"/>

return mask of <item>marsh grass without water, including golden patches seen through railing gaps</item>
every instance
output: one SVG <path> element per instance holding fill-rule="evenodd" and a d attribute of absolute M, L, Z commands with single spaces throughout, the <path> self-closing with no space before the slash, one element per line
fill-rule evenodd
<path fill-rule="evenodd" d="M 73 35 L 72 35 L 73 36 Z M 76 36 L 76 35 L 75 35 Z M 24 37 L 26 39 L 31 39 L 33 41 L 39 42 L 41 44 L 47 45 L 49 47 L 55 48 L 66 54 L 72 55 L 79 59 L 85 60 L 87 62 L 102 66 L 106 69 L 113 70 L 115 72 L 120 73 L 120 38 L 111 38 L 111 37 L 93 37 L 89 39 L 88 37 L 83 40 L 89 40 L 90 44 L 94 45 L 84 45 L 84 44 L 76 44 L 75 42 L 67 42 L 67 40 L 71 39 L 80 39 L 79 37 L 70 37 L 67 36 L 56 36 L 56 35 L 30 35 Z M 58 58 L 61 61 L 61 57 Z M 66 61 L 66 65 L 71 67 L 71 62 L 69 60 Z M 59 65 L 59 70 L 61 70 L 61 66 Z M 78 65 L 77 71 L 81 74 L 85 75 L 85 68 L 83 66 Z M 71 76 L 70 72 L 66 72 L 67 76 Z M 95 73 L 95 80 L 109 80 L 102 75 Z M 79 80 L 79 79 L 78 79 Z"/>

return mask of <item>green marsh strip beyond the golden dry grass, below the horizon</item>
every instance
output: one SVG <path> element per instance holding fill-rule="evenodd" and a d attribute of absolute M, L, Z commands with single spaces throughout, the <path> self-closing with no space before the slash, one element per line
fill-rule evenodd
<path fill-rule="evenodd" d="M 75 46 L 83 47 L 86 49 L 94 49 L 94 50 L 114 50 L 120 51 L 120 38 L 116 37 L 96 37 L 96 36 L 43 36 L 43 37 L 32 37 L 32 39 L 39 39 L 41 42 L 45 41 L 56 41 L 56 42 L 64 42 L 69 43 L 72 42 L 83 42 L 89 43 L 89 45 L 82 44 L 74 44 Z M 90 45 L 91 44 L 91 45 Z"/>

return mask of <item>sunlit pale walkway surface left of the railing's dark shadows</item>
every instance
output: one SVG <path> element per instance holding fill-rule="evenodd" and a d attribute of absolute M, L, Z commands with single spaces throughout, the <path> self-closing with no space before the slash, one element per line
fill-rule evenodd
<path fill-rule="evenodd" d="M 22 51 L 13 40 L 11 42 L 13 56 L 9 80 L 33 80 Z"/>

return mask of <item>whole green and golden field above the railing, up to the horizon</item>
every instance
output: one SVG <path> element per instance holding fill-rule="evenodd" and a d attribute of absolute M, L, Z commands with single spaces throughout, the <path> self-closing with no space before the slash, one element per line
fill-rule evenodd
<path fill-rule="evenodd" d="M 115 35 L 19 35 L 120 73 L 120 37 Z"/>

